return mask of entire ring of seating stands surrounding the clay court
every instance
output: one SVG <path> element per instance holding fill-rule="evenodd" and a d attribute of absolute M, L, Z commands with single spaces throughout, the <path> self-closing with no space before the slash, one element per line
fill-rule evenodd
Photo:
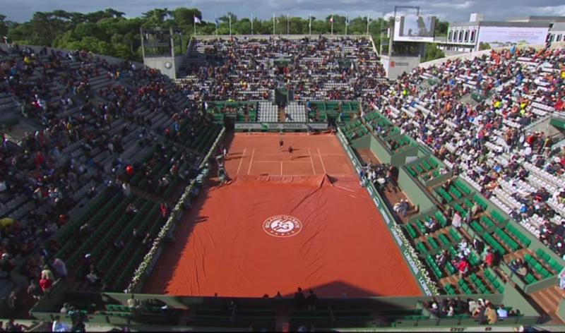
<path fill-rule="evenodd" d="M 565 79 L 564 58 L 565 49 L 493 51 L 420 67 L 390 83 L 364 38 L 203 38 L 191 40 L 184 78 L 173 83 L 85 52 L 13 49 L 1 55 L 2 74 L 11 78 L 0 85 L 0 112 L 6 119 L 21 114 L 44 130 L 26 134 L 20 145 L 4 138 L 0 214 L 8 218 L 2 236 L 9 241 L 1 268 L 22 265 L 38 281 L 51 266 L 59 278 L 64 274 L 51 264 L 59 259 L 73 272 L 70 288 L 61 291 L 59 281 L 55 301 L 40 302 L 36 313 L 47 320 L 64 302 L 92 322 L 178 322 L 190 301 L 172 306 L 170 298 L 139 296 L 143 305 L 130 305 L 121 291 L 165 225 L 167 205 L 200 173 L 225 120 L 282 121 L 283 111 L 285 121 L 335 117 L 348 143 L 376 138 L 391 161 L 418 157 L 402 168 L 438 207 L 400 225 L 446 296 L 378 305 L 328 300 L 314 312 L 287 313 L 291 329 L 472 326 L 483 316 L 495 324 L 496 308 L 509 314 L 506 325 L 535 324 L 535 310 L 524 310 L 528 302 L 516 301 L 528 315 L 501 304 L 518 294 L 501 273 L 517 275 L 521 284 L 512 281 L 525 290 L 563 270 L 545 248 L 565 258 L 565 141 L 536 126 L 563 121 L 565 95 L 555 87 Z M 293 65 L 280 72 L 281 59 Z M 295 91 L 295 102 L 271 102 L 278 88 Z M 398 189 L 385 164 L 367 166 L 366 174 L 381 194 Z M 492 255 L 501 262 L 491 262 Z M 78 293 L 85 290 L 109 297 Z M 227 301 L 191 305 L 184 325 L 275 329 L 278 311 L 294 306 Z"/>

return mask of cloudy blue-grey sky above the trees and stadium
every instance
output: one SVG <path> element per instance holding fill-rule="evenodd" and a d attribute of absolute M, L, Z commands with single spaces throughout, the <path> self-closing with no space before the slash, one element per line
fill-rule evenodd
<path fill-rule="evenodd" d="M 126 16 L 139 16 L 152 8 L 174 9 L 179 6 L 198 8 L 204 20 L 212 21 L 215 14 L 221 16 L 228 11 L 238 17 L 270 18 L 273 13 L 308 17 L 309 13 L 318 18 L 331 13 L 356 16 L 380 17 L 383 12 L 382 0 L 0 0 L 0 13 L 8 20 L 23 22 L 36 11 L 90 12 L 114 8 Z M 468 21 L 470 13 L 485 13 L 486 20 L 505 20 L 521 16 L 565 16 L 565 5 L 560 0 L 386 0 L 385 12 L 390 15 L 394 6 L 420 6 L 422 15 L 438 16 L 449 22 Z"/>

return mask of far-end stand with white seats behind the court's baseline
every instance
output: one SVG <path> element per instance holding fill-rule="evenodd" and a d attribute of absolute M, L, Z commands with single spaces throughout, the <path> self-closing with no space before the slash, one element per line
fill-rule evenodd
<path fill-rule="evenodd" d="M 278 59 L 292 59 L 292 66 L 281 70 Z M 192 40 L 182 73 L 177 82 L 196 100 L 272 100 L 275 88 L 292 90 L 296 102 L 283 114 L 287 121 L 325 121 L 326 113 L 340 111 L 345 114 L 343 121 L 349 121 L 350 114 L 359 111 L 357 102 L 326 105 L 323 101 L 369 97 L 385 81 L 371 42 L 345 37 Z M 304 108 L 302 102 L 309 101 L 320 103 L 307 103 Z M 259 103 L 258 121 L 278 119 L 277 106 Z"/>

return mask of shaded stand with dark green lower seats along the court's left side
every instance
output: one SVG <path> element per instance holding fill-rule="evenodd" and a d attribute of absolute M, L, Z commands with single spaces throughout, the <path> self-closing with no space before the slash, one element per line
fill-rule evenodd
<path fill-rule="evenodd" d="M 20 145 L 4 137 L 3 276 L 23 264 L 25 277 L 39 281 L 57 258 L 76 288 L 100 280 L 102 289 L 124 290 L 165 222 L 160 205 L 197 174 L 220 126 L 141 66 L 47 48 L 16 47 L 0 60 L 12 109 L 44 128 Z"/>

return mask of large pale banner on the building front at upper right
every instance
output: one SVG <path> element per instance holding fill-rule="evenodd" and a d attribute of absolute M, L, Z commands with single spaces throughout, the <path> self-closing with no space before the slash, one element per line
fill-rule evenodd
<path fill-rule="evenodd" d="M 513 47 L 514 45 L 545 44 L 548 28 L 480 27 L 477 51 Z"/>

